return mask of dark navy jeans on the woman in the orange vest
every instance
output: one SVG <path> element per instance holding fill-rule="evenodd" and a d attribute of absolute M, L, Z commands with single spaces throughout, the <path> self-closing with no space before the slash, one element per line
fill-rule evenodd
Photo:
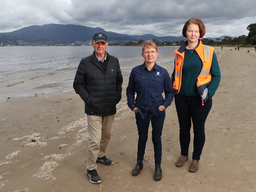
<path fill-rule="evenodd" d="M 204 124 L 211 110 L 212 100 L 209 99 L 202 106 L 202 100 L 198 97 L 188 97 L 185 95 L 175 95 L 175 106 L 179 119 L 179 143 L 181 155 L 189 154 L 191 120 L 194 130 L 194 151 L 192 159 L 200 160 L 204 142 L 206 139 Z"/>

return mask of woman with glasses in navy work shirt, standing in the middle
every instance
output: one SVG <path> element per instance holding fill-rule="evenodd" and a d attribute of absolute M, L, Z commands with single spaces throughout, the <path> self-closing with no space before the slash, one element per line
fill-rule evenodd
<path fill-rule="evenodd" d="M 157 46 L 153 41 L 145 41 L 142 44 L 142 57 L 145 62 L 132 69 L 126 89 L 127 104 L 135 112 L 139 135 L 137 163 L 132 174 L 136 176 L 143 169 L 142 161 L 148 139 L 149 123 L 151 121 L 155 157 L 155 181 L 159 181 L 162 178 L 161 135 L 165 109 L 172 103 L 174 97 L 174 90 L 171 86 L 171 80 L 167 70 L 155 62 L 158 54 Z M 165 98 L 162 96 L 163 92 Z"/>

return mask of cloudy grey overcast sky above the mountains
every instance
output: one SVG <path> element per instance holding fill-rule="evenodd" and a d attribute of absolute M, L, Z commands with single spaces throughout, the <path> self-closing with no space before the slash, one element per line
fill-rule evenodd
<path fill-rule="evenodd" d="M 204 37 L 248 35 L 256 0 L 0 0 L 0 32 L 31 25 L 78 24 L 129 35 L 181 36 L 198 17 Z"/>

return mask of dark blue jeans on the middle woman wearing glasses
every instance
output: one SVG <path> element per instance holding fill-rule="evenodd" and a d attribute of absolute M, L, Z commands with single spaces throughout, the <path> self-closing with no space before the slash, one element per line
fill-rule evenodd
<path fill-rule="evenodd" d="M 162 158 L 162 141 L 161 135 L 164 125 L 165 111 L 159 113 L 159 116 L 155 116 L 153 113 L 148 112 L 146 117 L 142 119 L 139 113 L 135 113 L 136 124 L 138 128 L 138 152 L 137 161 L 142 162 L 145 154 L 146 143 L 148 140 L 148 127 L 151 121 L 152 125 L 152 142 L 154 145 L 154 157 L 155 165 L 161 165 Z"/>

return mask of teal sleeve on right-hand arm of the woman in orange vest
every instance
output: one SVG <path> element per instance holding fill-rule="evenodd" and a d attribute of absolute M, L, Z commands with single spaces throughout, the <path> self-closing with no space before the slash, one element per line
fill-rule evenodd
<path fill-rule="evenodd" d="M 211 62 L 211 82 L 208 86 L 208 99 L 211 99 L 215 94 L 220 84 L 220 67 L 215 52 L 213 52 L 213 60 Z"/>

